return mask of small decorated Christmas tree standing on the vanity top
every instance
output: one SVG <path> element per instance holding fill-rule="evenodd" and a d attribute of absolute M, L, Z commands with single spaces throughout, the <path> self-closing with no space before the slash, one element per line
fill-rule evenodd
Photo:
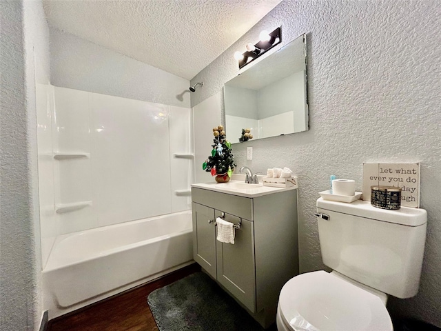
<path fill-rule="evenodd" d="M 212 155 L 202 165 L 203 170 L 211 172 L 212 176 L 227 175 L 231 177 L 236 164 L 232 154 L 232 144 L 225 138 L 223 126 L 213 128 Z"/>

